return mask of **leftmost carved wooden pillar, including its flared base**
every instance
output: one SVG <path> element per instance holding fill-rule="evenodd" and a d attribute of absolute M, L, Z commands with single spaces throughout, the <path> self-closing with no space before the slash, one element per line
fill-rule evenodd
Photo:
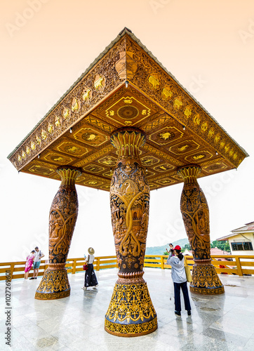
<path fill-rule="evenodd" d="M 70 294 L 65 264 L 78 216 L 79 204 L 75 180 L 81 175 L 81 171 L 70 166 L 62 166 L 57 172 L 62 183 L 55 194 L 49 213 L 49 261 L 35 293 L 38 300 L 65 298 Z"/>

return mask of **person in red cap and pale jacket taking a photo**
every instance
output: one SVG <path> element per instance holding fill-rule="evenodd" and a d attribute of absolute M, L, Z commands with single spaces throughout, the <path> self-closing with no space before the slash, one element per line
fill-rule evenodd
<path fill-rule="evenodd" d="M 185 300 L 185 310 L 187 310 L 188 316 L 191 313 L 191 305 L 189 303 L 189 294 L 187 289 L 187 278 L 185 274 L 185 259 L 182 256 L 181 248 L 179 245 L 175 246 L 173 253 L 169 253 L 167 264 L 171 265 L 171 277 L 174 283 L 174 293 L 175 293 L 175 314 L 181 315 L 181 300 L 180 300 L 180 289 L 182 289 L 183 298 Z"/>

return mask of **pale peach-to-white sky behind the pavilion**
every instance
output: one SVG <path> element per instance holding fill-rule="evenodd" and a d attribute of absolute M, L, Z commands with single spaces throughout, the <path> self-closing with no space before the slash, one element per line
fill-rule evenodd
<path fill-rule="evenodd" d="M 1 0 L 0 261 L 48 256 L 48 213 L 60 183 L 19 173 L 6 158 L 123 27 L 152 51 L 250 157 L 199 180 L 210 238 L 254 220 L 253 0 Z M 109 193 L 76 186 L 69 258 L 114 255 Z M 147 246 L 186 237 L 182 184 L 151 192 Z"/>

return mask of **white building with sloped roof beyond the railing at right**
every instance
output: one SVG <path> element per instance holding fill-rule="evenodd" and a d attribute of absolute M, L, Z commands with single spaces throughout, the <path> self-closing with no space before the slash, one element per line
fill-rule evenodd
<path fill-rule="evenodd" d="M 232 255 L 253 255 L 254 222 L 246 223 L 243 227 L 234 229 L 231 232 L 232 234 L 217 240 L 228 240 Z"/>

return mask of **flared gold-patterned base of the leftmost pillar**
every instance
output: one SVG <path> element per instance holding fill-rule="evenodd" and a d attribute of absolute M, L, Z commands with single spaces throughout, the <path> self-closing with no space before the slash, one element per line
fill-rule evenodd
<path fill-rule="evenodd" d="M 67 270 L 51 270 L 47 268 L 36 290 L 35 298 L 37 300 L 66 298 L 69 296 L 70 291 Z"/>

